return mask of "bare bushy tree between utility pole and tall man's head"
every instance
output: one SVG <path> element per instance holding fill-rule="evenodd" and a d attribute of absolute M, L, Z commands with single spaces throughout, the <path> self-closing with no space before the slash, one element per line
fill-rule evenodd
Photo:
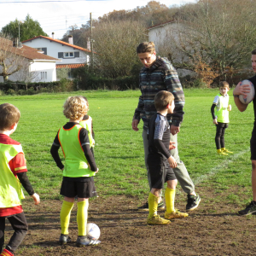
<path fill-rule="evenodd" d="M 131 75 L 138 63 L 137 44 L 147 38 L 141 22 L 131 20 L 101 22 L 93 31 L 96 68 L 103 76 L 117 78 Z"/>

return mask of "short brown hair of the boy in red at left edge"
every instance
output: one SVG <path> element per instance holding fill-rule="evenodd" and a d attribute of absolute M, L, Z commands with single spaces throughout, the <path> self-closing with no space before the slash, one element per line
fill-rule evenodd
<path fill-rule="evenodd" d="M 14 105 L 3 103 L 0 105 L 0 131 L 9 130 L 11 125 L 20 120 L 20 110 Z"/>

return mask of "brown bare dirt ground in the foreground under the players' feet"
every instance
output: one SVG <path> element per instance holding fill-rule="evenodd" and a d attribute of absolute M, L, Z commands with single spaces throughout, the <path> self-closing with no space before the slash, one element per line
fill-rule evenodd
<path fill-rule="evenodd" d="M 200 207 L 189 218 L 176 219 L 167 226 L 146 224 L 148 213 L 137 212 L 144 201 L 125 196 L 90 201 L 89 222 L 102 232 L 102 243 L 95 247 L 75 246 L 76 206 L 70 223 L 72 243 L 60 246 L 61 201 L 42 201 L 38 207 L 25 201 L 30 230 L 15 255 L 255 255 L 255 216 L 238 216 L 241 206 L 217 200 L 212 188 L 197 187 L 197 191 Z M 226 198 L 226 193 L 218 192 L 218 198 Z M 184 210 L 185 195 L 177 198 L 176 207 Z M 7 224 L 5 241 L 12 232 Z"/>

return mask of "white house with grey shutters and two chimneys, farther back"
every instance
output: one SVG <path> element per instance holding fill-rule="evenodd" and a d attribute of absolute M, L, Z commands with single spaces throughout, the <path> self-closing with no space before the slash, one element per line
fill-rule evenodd
<path fill-rule="evenodd" d="M 77 68 L 90 62 L 90 50 L 73 44 L 73 37 L 68 37 L 69 43 L 54 38 L 38 36 L 23 41 L 22 44 L 44 51 L 45 55 L 60 59 L 61 64 L 56 68 Z"/>

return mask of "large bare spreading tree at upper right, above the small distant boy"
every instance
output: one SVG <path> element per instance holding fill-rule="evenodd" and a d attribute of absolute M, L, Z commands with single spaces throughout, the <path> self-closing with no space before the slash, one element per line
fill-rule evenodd
<path fill-rule="evenodd" d="M 176 67 L 210 67 L 224 78 L 227 73 L 247 66 L 248 55 L 255 48 L 255 3 L 200 0 L 196 8 L 183 12 L 180 21 L 177 20 L 177 31 L 166 36 L 160 51 L 176 59 Z"/>

